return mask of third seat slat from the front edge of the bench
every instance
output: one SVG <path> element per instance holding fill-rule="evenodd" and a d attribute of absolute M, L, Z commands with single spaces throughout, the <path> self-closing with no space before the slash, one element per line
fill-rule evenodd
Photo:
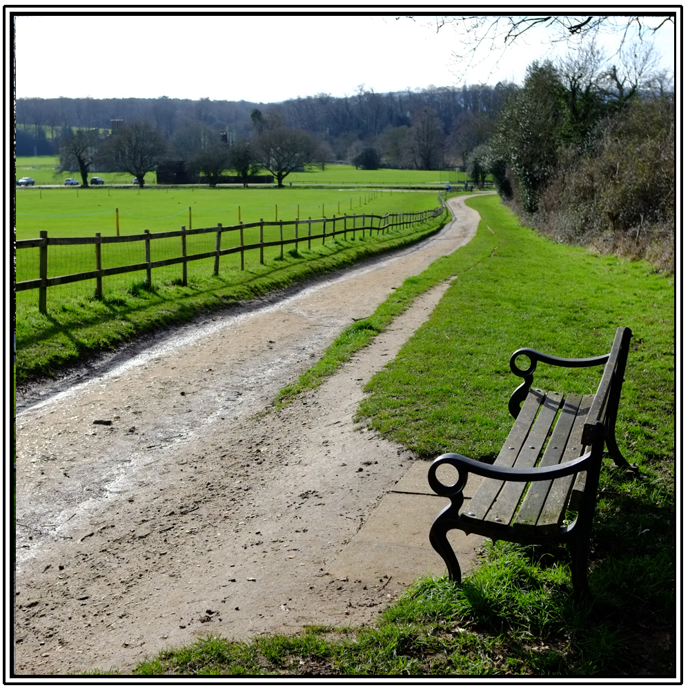
<path fill-rule="evenodd" d="M 540 467 L 549 465 L 557 465 L 563 462 L 564 453 L 570 447 L 571 433 L 573 433 L 573 423 L 578 416 L 580 410 L 580 402 L 582 395 L 569 395 L 563 404 L 563 408 L 558 417 L 558 421 L 553 429 L 553 434 L 546 446 Z M 583 420 L 584 421 L 584 420 Z M 582 435 L 582 424 L 580 424 L 580 435 Z M 578 448 L 580 439 L 578 437 Z M 577 455 L 570 457 L 574 460 Z M 566 477 L 570 483 L 573 477 Z M 517 511 L 515 520 L 513 520 L 513 529 L 516 532 L 529 533 L 533 531 L 538 523 L 539 517 L 542 514 L 546 497 L 549 495 L 553 486 L 553 480 L 546 482 L 532 482 L 527 489 L 520 510 Z"/>

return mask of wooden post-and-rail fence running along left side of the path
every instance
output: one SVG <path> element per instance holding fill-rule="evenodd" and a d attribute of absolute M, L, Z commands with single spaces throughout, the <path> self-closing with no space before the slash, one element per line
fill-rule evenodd
<path fill-rule="evenodd" d="M 441 200 L 441 197 L 439 197 Z M 393 228 L 411 227 L 415 224 L 422 223 L 429 219 L 435 218 L 443 213 L 443 206 L 424 211 L 413 211 L 411 213 L 388 213 L 387 215 L 343 215 L 333 218 L 318 218 L 300 220 L 295 218 L 294 221 L 264 221 L 259 220 L 258 223 L 247 223 L 234 226 L 221 226 L 220 224 L 215 228 L 195 228 L 187 230 L 182 226 L 181 230 L 174 230 L 166 233 L 150 233 L 144 230 L 141 235 L 126 235 L 122 237 L 101 237 L 101 233 L 96 233 L 95 237 L 48 237 L 46 230 L 41 230 L 39 239 L 20 239 L 15 243 L 16 250 L 38 248 L 39 249 L 39 276 L 31 280 L 23 280 L 15 283 L 15 290 L 38 290 L 39 293 L 39 311 L 46 313 L 46 296 L 48 288 L 67 283 L 74 283 L 83 280 L 95 280 L 95 297 L 101 299 L 103 296 L 103 278 L 110 275 L 117 275 L 119 273 L 131 273 L 132 271 L 146 270 L 146 284 L 151 285 L 151 271 L 154 268 L 162 266 L 170 266 L 172 264 L 181 264 L 181 284 L 187 284 L 187 264 L 200 259 L 215 258 L 213 273 L 218 275 L 220 268 L 220 257 L 237 254 L 240 257 L 240 268 L 244 270 L 244 254 L 248 251 L 258 250 L 259 263 L 264 263 L 264 248 L 280 247 L 281 255 L 283 248 L 286 245 L 295 245 L 295 250 L 300 242 L 306 242 L 307 247 L 311 249 L 311 243 L 319 239 L 323 244 L 327 237 L 335 238 L 337 235 L 347 236 L 352 233 L 353 239 L 355 235 L 362 233 L 362 237 L 366 236 L 368 230 L 371 237 L 374 230 L 376 234 L 386 233 Z M 337 227 L 342 223 L 342 228 Z M 306 234 L 300 235 L 300 226 L 306 226 Z M 250 228 L 259 229 L 259 242 L 253 244 L 245 244 L 244 233 Z M 279 238 L 270 242 L 264 242 L 265 228 L 279 228 Z M 284 237 L 284 231 L 288 228 L 291 237 Z M 330 229 L 329 229 L 330 228 Z M 314 233 L 313 229 L 317 232 Z M 187 254 L 187 238 L 190 235 L 204 235 L 208 233 L 215 233 L 215 250 Z M 221 238 L 224 233 L 237 233 L 236 246 L 221 249 Z M 151 260 L 151 243 L 161 239 L 169 239 L 171 237 L 179 237 L 180 241 L 180 255 L 177 257 L 170 257 L 161 259 L 159 261 Z M 110 268 L 103 268 L 101 266 L 101 247 L 103 244 L 117 244 L 125 242 L 141 242 L 143 243 L 144 261 L 137 264 L 129 264 L 127 266 L 112 266 Z M 81 273 L 71 273 L 69 275 L 58 275 L 48 277 L 48 247 L 57 245 L 83 245 L 92 244 L 94 247 L 94 269 L 82 271 Z"/>

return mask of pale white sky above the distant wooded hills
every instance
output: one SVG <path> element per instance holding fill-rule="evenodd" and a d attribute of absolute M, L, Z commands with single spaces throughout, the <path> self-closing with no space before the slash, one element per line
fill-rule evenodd
<path fill-rule="evenodd" d="M 113 11 L 117 8 L 108 8 Z M 10 22 L 7 26 L 11 32 Z M 413 20 L 103 12 L 19 15 L 16 27 L 17 98 L 168 96 L 270 103 L 320 92 L 351 95 L 359 85 L 388 92 L 464 81 L 519 83 L 531 61 L 566 50 L 564 44 L 549 46 L 546 34 L 535 30 L 529 43 L 519 41 L 504 54 L 491 52 L 464 70 L 466 64 L 454 56 L 462 51 L 457 29 L 437 31 L 431 15 Z M 670 71 L 674 39 L 673 26 L 655 37 L 661 66 Z M 611 53 L 618 48 L 615 39 L 604 43 Z"/>

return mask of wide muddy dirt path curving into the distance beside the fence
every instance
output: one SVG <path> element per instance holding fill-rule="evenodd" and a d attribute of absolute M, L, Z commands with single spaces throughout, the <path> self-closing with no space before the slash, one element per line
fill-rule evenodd
<path fill-rule="evenodd" d="M 409 584 L 330 573 L 414 460 L 355 428 L 362 385 L 447 285 L 317 391 L 257 413 L 344 326 L 473 237 L 477 213 L 451 204 L 455 221 L 420 246 L 18 400 L 17 673 L 126 671 L 201 635 L 361 624 Z"/>

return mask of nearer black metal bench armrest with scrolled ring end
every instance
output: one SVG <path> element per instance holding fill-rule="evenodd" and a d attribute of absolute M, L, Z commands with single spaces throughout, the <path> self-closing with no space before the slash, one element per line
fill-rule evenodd
<path fill-rule="evenodd" d="M 538 482 L 544 480 L 558 479 L 567 475 L 577 474 L 586 470 L 589 466 L 591 451 L 570 462 L 560 465 L 549 465 L 546 467 L 501 467 L 490 465 L 486 462 L 472 460 L 464 455 L 457 453 L 444 453 L 433 461 L 428 472 L 428 482 L 431 489 L 440 496 L 455 495 L 464 489 L 467 483 L 468 473 L 489 477 L 491 479 L 503 480 L 504 482 Z M 436 471 L 442 464 L 449 464 L 455 467 L 458 473 L 457 482 L 453 486 L 442 484 L 437 477 Z"/>

